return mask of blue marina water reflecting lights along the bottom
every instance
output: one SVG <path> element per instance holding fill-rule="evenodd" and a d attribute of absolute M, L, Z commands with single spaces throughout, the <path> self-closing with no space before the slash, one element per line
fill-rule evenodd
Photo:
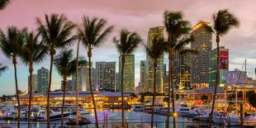
<path fill-rule="evenodd" d="M 121 122 L 121 110 L 98 110 L 97 111 L 98 115 L 98 121 L 100 124 L 100 127 L 102 127 L 103 122 L 104 122 L 104 115 L 107 115 L 108 118 L 108 127 L 111 128 L 111 122 Z M 151 119 L 151 114 L 149 113 L 144 113 L 144 112 L 135 112 L 135 111 L 126 111 L 125 112 L 126 119 L 128 121 L 128 126 L 140 126 L 141 122 L 145 122 L 150 125 L 150 119 Z M 88 125 L 88 127 L 94 127 L 94 112 L 91 111 L 90 114 L 83 115 L 86 118 L 88 118 L 90 121 L 92 121 L 91 125 Z M 161 115 L 154 115 L 154 126 L 157 126 L 158 128 L 164 128 L 165 126 L 165 120 L 166 116 L 161 116 Z M 68 121 L 68 119 L 64 119 L 64 122 Z M 170 121 L 173 121 L 173 118 L 170 117 Z M 2 126 L 12 126 L 13 128 L 16 127 L 16 121 L 0 121 Z M 27 122 L 26 121 L 21 121 L 21 128 L 22 127 L 27 127 Z M 45 128 L 46 127 L 46 122 L 45 121 L 31 121 L 31 126 L 33 128 Z M 51 127 L 60 126 L 60 121 L 50 121 Z M 203 125 L 201 123 L 201 125 Z M 207 124 L 205 124 L 207 125 Z M 0 126 L 0 127 L 2 127 Z M 173 127 L 173 124 L 170 123 L 170 128 Z M 186 126 L 198 126 L 197 121 L 192 121 L 192 118 L 187 118 L 187 117 L 178 117 L 178 128 L 186 128 Z M 83 126 L 86 127 L 86 126 Z"/>

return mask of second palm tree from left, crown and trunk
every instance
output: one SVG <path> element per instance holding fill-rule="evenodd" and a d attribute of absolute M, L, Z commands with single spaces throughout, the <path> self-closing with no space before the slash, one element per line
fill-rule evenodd
<path fill-rule="evenodd" d="M 29 103 L 28 103 L 28 121 L 27 126 L 30 127 L 31 122 L 31 98 L 32 98 L 32 73 L 33 64 L 40 64 L 46 57 L 46 47 L 45 45 L 40 45 L 38 42 L 38 34 L 35 35 L 33 32 L 23 31 L 24 33 L 24 47 L 21 50 L 21 59 L 25 64 L 29 66 Z"/>

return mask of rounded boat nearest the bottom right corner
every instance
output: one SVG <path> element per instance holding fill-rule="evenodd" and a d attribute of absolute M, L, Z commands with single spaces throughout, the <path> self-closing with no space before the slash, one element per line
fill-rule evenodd
<path fill-rule="evenodd" d="M 237 114 L 228 114 L 223 121 L 225 126 L 240 126 L 240 120 Z"/>

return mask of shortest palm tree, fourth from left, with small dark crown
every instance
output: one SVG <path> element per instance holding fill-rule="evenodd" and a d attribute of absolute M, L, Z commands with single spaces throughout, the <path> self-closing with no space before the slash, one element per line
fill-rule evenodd
<path fill-rule="evenodd" d="M 64 120 L 64 104 L 65 104 L 65 95 L 66 95 L 66 86 L 67 86 L 67 77 L 75 73 L 76 70 L 76 60 L 73 60 L 72 55 L 73 50 L 62 50 L 59 55 L 54 59 L 55 67 L 59 75 L 63 78 L 63 98 L 62 98 L 62 107 L 61 107 L 61 127 L 63 127 Z"/>

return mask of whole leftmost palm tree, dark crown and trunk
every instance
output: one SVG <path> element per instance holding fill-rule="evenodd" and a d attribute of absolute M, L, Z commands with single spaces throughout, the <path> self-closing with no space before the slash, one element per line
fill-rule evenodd
<path fill-rule="evenodd" d="M 23 47 L 23 36 L 21 31 L 17 29 L 15 26 L 11 26 L 7 28 L 7 34 L 4 34 L 2 30 L 0 30 L 0 42 L 2 53 L 7 56 L 8 59 L 12 59 L 12 64 L 14 67 L 14 77 L 15 77 L 15 88 L 16 88 L 16 97 L 17 97 L 17 127 L 20 127 L 20 97 L 19 97 L 19 88 L 17 82 L 17 58 L 21 55 L 21 48 Z"/>

